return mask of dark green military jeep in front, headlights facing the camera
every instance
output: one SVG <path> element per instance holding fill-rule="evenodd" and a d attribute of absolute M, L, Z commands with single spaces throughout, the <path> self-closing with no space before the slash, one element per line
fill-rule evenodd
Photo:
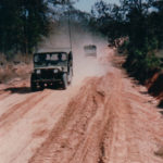
<path fill-rule="evenodd" d="M 61 86 L 66 89 L 72 83 L 72 52 L 42 52 L 34 54 L 34 71 L 30 77 L 33 91 L 48 86 Z"/>

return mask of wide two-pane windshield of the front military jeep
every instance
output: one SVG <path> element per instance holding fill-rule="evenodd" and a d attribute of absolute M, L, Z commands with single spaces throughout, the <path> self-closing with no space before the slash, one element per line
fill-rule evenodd
<path fill-rule="evenodd" d="M 45 66 L 66 66 L 67 54 L 65 52 L 58 53 L 36 53 L 34 55 L 35 67 Z"/>

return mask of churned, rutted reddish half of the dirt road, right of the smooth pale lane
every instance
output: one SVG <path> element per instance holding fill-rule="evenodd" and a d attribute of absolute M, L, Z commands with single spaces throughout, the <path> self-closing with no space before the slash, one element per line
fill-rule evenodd
<path fill-rule="evenodd" d="M 162 120 L 150 109 L 141 118 L 125 80 L 120 71 L 88 80 L 29 163 L 162 163 L 154 155 Z"/>

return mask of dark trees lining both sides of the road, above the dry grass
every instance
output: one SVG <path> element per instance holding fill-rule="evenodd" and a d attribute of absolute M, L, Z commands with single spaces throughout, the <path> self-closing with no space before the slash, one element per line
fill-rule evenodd
<path fill-rule="evenodd" d="M 97 1 L 91 13 L 74 8 L 76 0 L 0 1 L 1 65 L 18 55 L 23 62 L 42 38 L 49 37 L 68 15 L 74 26 L 101 33 L 109 45 L 126 54 L 124 67 L 141 84 L 163 67 L 163 1 L 120 0 L 111 4 Z M 71 12 L 70 12 L 71 11 Z M 4 62 L 3 62 L 4 61 Z M 17 61 L 16 61 L 17 62 Z M 7 64 L 5 64 L 7 65 Z"/>

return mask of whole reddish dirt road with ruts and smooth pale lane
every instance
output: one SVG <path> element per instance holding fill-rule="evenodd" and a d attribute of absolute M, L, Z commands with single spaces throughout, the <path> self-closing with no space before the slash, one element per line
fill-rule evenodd
<path fill-rule="evenodd" d="M 0 163 L 163 163 L 155 154 L 163 147 L 156 101 L 105 50 L 102 70 L 76 68 L 83 77 L 65 91 L 1 86 Z"/>

